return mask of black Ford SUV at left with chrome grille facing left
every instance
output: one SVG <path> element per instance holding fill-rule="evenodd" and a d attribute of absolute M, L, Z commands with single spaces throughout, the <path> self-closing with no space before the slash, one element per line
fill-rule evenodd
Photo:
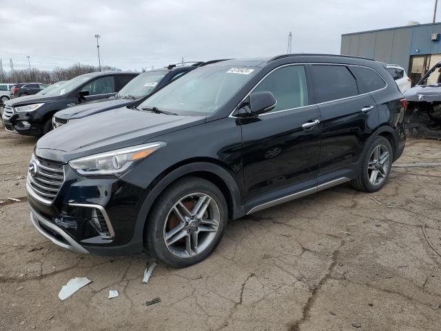
<path fill-rule="evenodd" d="M 58 110 L 77 103 L 111 97 L 138 74 L 139 72 L 82 74 L 48 93 L 6 101 L 3 124 L 11 132 L 41 136 L 52 129 L 52 116 Z"/>

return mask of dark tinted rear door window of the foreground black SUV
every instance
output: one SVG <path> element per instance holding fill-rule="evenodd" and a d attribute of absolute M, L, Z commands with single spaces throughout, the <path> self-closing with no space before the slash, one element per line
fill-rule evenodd
<path fill-rule="evenodd" d="M 358 94 L 356 79 L 346 66 L 314 65 L 311 68 L 319 103 Z"/>

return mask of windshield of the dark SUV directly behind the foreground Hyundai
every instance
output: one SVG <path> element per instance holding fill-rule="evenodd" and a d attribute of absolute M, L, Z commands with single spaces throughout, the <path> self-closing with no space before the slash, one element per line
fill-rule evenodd
<path fill-rule="evenodd" d="M 158 83 L 165 77 L 167 71 L 150 71 L 139 74 L 129 81 L 116 94 L 116 98 L 141 99 L 152 92 Z"/>

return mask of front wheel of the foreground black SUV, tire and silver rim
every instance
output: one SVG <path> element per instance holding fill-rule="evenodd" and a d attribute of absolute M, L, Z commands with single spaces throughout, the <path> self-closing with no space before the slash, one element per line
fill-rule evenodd
<path fill-rule="evenodd" d="M 144 241 L 158 261 L 185 268 L 213 252 L 227 219 L 227 202 L 216 185 L 199 177 L 185 177 L 156 199 Z"/>

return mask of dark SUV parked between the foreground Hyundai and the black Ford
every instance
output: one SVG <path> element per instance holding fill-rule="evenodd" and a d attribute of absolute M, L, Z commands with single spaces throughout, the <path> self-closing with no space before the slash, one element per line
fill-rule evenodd
<path fill-rule="evenodd" d="M 129 106 L 136 100 L 142 99 L 173 79 L 177 79 L 197 66 L 200 66 L 202 63 L 203 62 L 196 62 L 193 66 L 171 65 L 166 68 L 143 72 L 130 81 L 130 83 L 127 83 L 114 97 L 91 101 L 55 113 L 53 118 L 54 128 L 58 128 L 69 121 L 72 122 L 76 119 L 82 119 L 83 117 L 98 114 L 99 112 Z"/>

